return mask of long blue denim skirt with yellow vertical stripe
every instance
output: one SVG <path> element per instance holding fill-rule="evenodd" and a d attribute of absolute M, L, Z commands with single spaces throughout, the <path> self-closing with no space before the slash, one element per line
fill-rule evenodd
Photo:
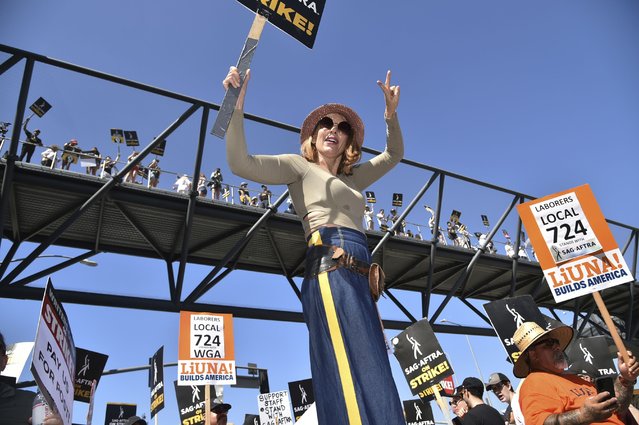
<path fill-rule="evenodd" d="M 316 245 L 336 245 L 371 261 L 366 235 L 353 229 L 322 227 L 308 245 L 307 254 Z M 319 424 L 405 423 L 368 278 L 344 268 L 313 277 L 308 264 L 306 270 L 302 305 Z"/>

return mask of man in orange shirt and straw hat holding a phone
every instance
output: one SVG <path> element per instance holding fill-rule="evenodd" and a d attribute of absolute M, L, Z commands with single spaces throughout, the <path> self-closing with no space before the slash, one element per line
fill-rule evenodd
<path fill-rule="evenodd" d="M 628 364 L 619 355 L 615 394 L 598 394 L 592 383 L 564 372 L 568 367 L 564 349 L 572 335 L 568 326 L 545 330 L 534 322 L 524 322 L 515 331 L 513 340 L 521 355 L 513 373 L 526 378 L 519 387 L 526 425 L 623 425 L 620 418 L 630 404 L 639 363 L 631 352 Z"/>

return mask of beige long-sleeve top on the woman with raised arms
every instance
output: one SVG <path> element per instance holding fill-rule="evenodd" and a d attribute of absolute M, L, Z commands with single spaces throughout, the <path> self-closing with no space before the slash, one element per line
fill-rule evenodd
<path fill-rule="evenodd" d="M 234 174 L 264 184 L 288 186 L 304 233 L 324 225 L 364 231 L 362 191 L 390 171 L 404 157 L 404 141 L 397 114 L 386 119 L 386 149 L 353 167 L 350 176 L 332 175 L 297 154 L 249 155 L 244 113 L 235 110 L 226 132 L 226 159 Z"/>

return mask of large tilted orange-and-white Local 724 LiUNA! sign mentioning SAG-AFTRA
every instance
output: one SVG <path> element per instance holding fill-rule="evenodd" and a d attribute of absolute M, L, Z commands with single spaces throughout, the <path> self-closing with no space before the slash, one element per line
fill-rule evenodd
<path fill-rule="evenodd" d="M 634 280 L 589 185 L 517 210 L 555 302 Z"/>

